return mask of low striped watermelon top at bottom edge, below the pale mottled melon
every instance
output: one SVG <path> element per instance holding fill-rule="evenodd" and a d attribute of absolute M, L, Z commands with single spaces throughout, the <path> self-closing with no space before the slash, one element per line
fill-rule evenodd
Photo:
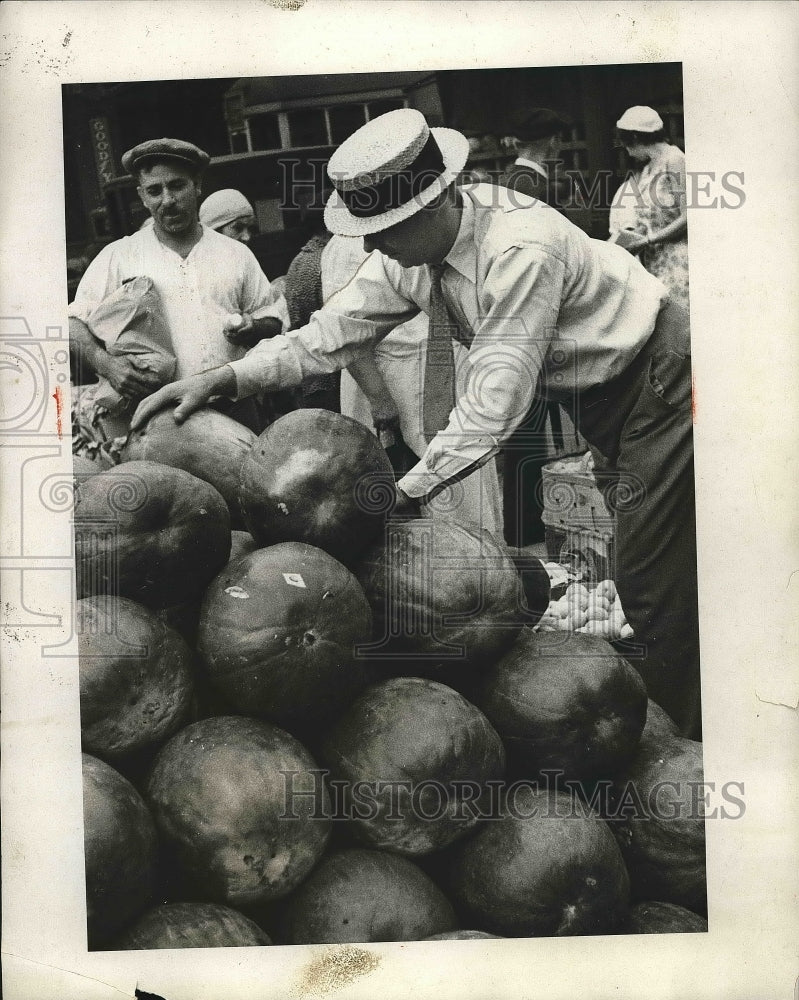
<path fill-rule="evenodd" d="M 114 942 L 115 949 L 243 948 L 271 944 L 243 913 L 220 903 L 162 903 L 143 913 Z"/>

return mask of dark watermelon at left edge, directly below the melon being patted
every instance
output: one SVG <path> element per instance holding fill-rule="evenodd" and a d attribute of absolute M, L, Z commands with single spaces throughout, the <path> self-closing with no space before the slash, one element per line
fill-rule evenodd
<path fill-rule="evenodd" d="M 229 553 L 227 504 L 182 469 L 126 462 L 80 487 L 78 597 L 114 594 L 151 608 L 183 604 L 202 593 Z"/>

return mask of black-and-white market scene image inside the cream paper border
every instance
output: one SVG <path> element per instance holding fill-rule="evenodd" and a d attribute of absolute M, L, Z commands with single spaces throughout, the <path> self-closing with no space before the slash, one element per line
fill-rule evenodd
<path fill-rule="evenodd" d="M 89 946 L 705 930 L 681 67 L 63 102 Z M 134 416 L 288 331 L 269 391 Z M 481 468 L 399 520 L 442 447 Z"/>

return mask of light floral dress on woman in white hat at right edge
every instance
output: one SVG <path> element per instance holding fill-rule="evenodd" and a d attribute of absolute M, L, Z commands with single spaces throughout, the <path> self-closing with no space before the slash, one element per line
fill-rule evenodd
<path fill-rule="evenodd" d="M 610 214 L 611 233 L 634 229 L 659 232 L 680 214 L 685 192 L 685 154 L 676 146 L 656 146 L 652 159 L 616 192 Z M 688 308 L 688 237 L 644 247 L 640 260 L 668 288 L 672 299 Z"/>

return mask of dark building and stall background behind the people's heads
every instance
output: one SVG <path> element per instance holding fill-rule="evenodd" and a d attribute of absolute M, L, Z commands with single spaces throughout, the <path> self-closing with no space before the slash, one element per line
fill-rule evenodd
<path fill-rule="evenodd" d="M 550 107 L 566 116 L 564 167 L 579 171 L 591 195 L 581 223 L 598 238 L 607 236 L 610 198 L 628 166 L 613 141 L 625 108 L 656 107 L 670 141 L 685 145 L 679 63 L 82 83 L 62 91 L 70 293 L 103 245 L 146 218 L 120 166 L 122 153 L 145 139 L 176 136 L 207 150 L 203 193 L 234 187 L 247 195 L 262 234 L 253 250 L 270 279 L 285 273 L 307 238 L 304 207 L 321 192 L 332 151 L 393 108 L 417 108 L 432 125 L 464 132 L 472 140 L 466 170 L 495 174 L 513 159 L 499 140 L 516 114 Z"/>

